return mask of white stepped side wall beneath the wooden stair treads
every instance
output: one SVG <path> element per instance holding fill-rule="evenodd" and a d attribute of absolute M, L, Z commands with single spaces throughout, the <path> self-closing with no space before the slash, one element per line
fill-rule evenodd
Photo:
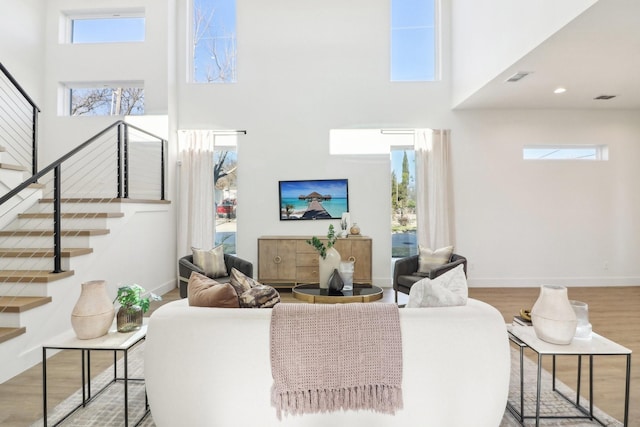
<path fill-rule="evenodd" d="M 110 205 L 113 209 L 114 203 Z M 72 333 L 71 312 L 82 283 L 105 280 L 110 298 L 115 298 L 118 286 L 128 283 L 137 283 L 156 294 L 177 286 L 171 204 L 119 205 L 124 216 L 110 221 L 109 234 L 92 238 L 93 253 L 70 261 L 75 274 L 47 284 L 52 302 L 20 313 L 20 326 L 27 331 L 0 343 L 0 383 L 41 362 L 42 345 L 51 342 L 52 337 Z"/>

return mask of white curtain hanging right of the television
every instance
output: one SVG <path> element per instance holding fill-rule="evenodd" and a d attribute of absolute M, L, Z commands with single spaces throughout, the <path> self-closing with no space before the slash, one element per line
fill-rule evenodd
<path fill-rule="evenodd" d="M 418 244 L 434 250 L 454 245 L 450 132 L 416 129 L 414 144 Z"/>

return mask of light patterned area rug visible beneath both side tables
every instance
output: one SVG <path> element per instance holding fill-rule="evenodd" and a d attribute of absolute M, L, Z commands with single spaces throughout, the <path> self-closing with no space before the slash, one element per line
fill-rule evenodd
<path fill-rule="evenodd" d="M 129 352 L 129 377 L 130 378 L 142 378 L 144 374 L 143 367 L 143 352 L 144 343 L 138 345 L 132 351 Z M 122 359 L 118 362 L 118 372 L 123 372 Z M 524 359 L 524 375 L 525 375 L 525 413 L 531 415 L 535 413 L 535 379 L 536 379 L 536 366 L 535 363 L 529 359 Z M 92 383 L 92 390 L 98 390 L 103 385 L 107 384 L 113 378 L 113 370 L 107 369 L 94 379 Z M 557 393 L 550 389 L 551 374 L 546 371 L 542 373 L 543 392 L 542 400 L 544 406 L 541 408 L 543 415 L 554 414 L 578 414 L 576 410 L 564 399 L 558 396 Z M 556 388 L 562 391 L 567 396 L 574 396 L 575 392 L 570 387 L 556 380 Z M 69 418 L 67 418 L 62 425 L 64 426 L 124 426 L 124 402 L 123 396 L 123 384 L 117 382 L 109 386 L 100 396 L 91 401 L 86 407 L 79 409 Z M 49 411 L 48 425 L 55 424 L 60 420 L 64 414 L 71 411 L 82 401 L 82 390 L 78 390 L 73 395 L 68 397 L 62 403 Z M 509 387 L 509 401 L 520 402 L 520 371 L 519 371 L 519 352 L 515 349 L 511 351 L 511 382 Z M 588 407 L 589 402 L 586 399 L 581 398 L 582 405 Z M 144 397 L 144 385 L 140 382 L 129 383 L 129 425 L 136 425 L 136 422 L 145 413 L 145 397 Z M 594 406 L 594 415 L 600 419 L 605 426 L 614 427 L 622 426 L 622 423 L 613 419 L 609 415 L 605 414 Z M 43 425 L 42 420 L 32 424 L 32 427 L 40 427 Z M 147 415 L 139 424 L 143 427 L 155 427 L 153 422 L 153 414 Z M 511 413 L 505 410 L 505 414 L 502 418 L 502 422 L 499 427 L 516 427 L 520 423 L 511 415 Z M 525 421 L 525 426 L 535 425 L 535 420 L 528 419 Z M 541 426 L 563 426 L 563 427 L 587 427 L 598 425 L 595 421 L 589 420 L 574 420 L 574 419 L 543 419 L 540 421 Z M 463 426 L 461 426 L 463 427 Z M 466 426 L 465 426 L 466 427 Z"/>

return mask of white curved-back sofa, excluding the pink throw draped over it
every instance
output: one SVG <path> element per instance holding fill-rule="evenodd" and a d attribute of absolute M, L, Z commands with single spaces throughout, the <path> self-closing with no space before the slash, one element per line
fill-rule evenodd
<path fill-rule="evenodd" d="M 270 309 L 168 303 L 149 319 L 145 379 L 157 426 L 497 427 L 509 389 L 505 322 L 483 302 L 401 308 L 404 408 L 276 417 Z M 351 325 L 346 325 L 351 326 Z M 374 361 L 372 361 L 373 363 Z"/>

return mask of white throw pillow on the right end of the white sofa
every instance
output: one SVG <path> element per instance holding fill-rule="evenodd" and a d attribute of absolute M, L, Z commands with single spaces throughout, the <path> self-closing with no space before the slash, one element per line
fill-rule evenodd
<path fill-rule="evenodd" d="M 435 279 L 424 278 L 411 286 L 407 307 L 466 305 L 469 290 L 464 266 L 458 265 Z"/>

